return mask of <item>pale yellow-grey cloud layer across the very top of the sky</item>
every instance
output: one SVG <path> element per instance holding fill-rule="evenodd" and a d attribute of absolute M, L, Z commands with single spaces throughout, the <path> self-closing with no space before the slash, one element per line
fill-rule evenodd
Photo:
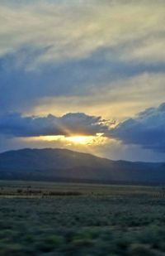
<path fill-rule="evenodd" d="M 26 70 L 83 59 L 98 49 L 164 62 L 163 1 L 2 1 L 0 56 L 29 47 Z M 147 51 L 146 51 L 147 50 Z M 40 51 L 33 57 L 33 51 Z M 28 54 L 29 54 L 28 52 Z M 27 56 L 28 56 L 27 54 Z M 25 60 L 25 58 L 24 58 Z M 20 58 L 21 61 L 24 61 Z"/>

